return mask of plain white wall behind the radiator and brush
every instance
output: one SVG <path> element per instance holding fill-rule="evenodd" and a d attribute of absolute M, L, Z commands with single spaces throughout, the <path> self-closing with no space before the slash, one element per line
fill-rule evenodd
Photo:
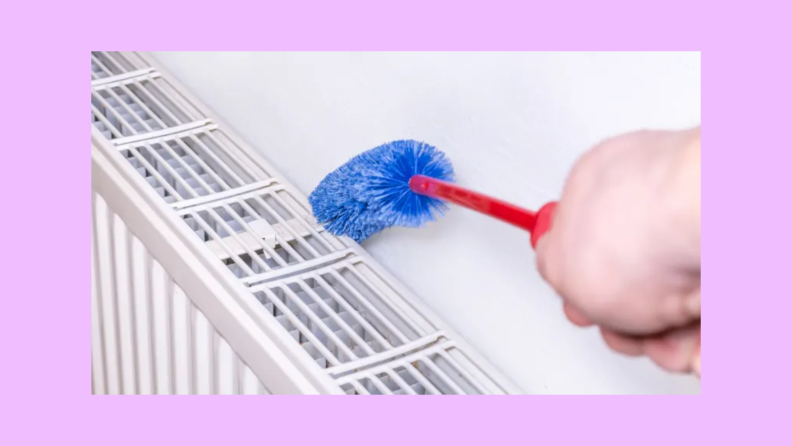
<path fill-rule="evenodd" d="M 414 138 L 444 150 L 461 184 L 535 208 L 598 141 L 701 119 L 698 53 L 155 57 L 306 194 L 355 154 Z M 453 209 L 364 247 L 527 392 L 700 392 L 570 325 L 526 233 Z"/>

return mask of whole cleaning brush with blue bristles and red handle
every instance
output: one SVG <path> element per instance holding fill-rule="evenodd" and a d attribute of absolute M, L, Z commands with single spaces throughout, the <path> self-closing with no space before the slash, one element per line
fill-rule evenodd
<path fill-rule="evenodd" d="M 549 229 L 556 203 L 531 212 L 452 183 L 448 157 L 419 141 L 393 141 L 347 161 L 308 197 L 314 216 L 331 234 L 360 243 L 392 226 L 420 227 L 442 216 L 446 202 L 531 232 L 531 244 Z"/>

